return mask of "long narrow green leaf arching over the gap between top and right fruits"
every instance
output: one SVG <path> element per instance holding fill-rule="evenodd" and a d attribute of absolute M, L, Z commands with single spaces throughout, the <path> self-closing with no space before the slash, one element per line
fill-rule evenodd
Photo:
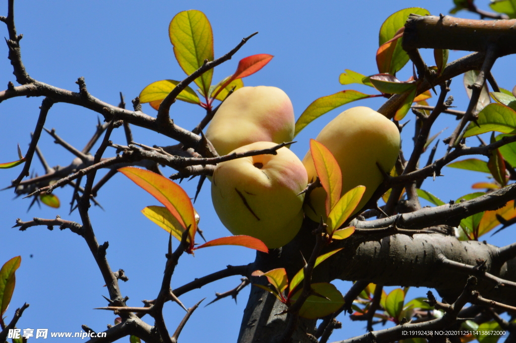
<path fill-rule="evenodd" d="M 335 94 L 319 97 L 310 105 L 307 109 L 301 113 L 301 116 L 296 121 L 296 130 L 294 136 L 296 136 L 304 127 L 310 124 L 315 119 L 324 115 L 325 113 L 348 104 L 352 101 L 366 99 L 372 95 L 357 92 L 356 90 L 343 90 Z"/>

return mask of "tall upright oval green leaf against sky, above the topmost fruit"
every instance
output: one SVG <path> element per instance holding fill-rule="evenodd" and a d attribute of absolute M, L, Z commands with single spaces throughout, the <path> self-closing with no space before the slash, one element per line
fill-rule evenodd
<path fill-rule="evenodd" d="M 204 60 L 213 61 L 213 32 L 206 15 L 197 10 L 179 12 L 170 22 L 168 33 L 174 46 L 175 58 L 183 71 L 190 75 L 199 69 Z M 213 69 L 195 80 L 208 93 Z"/>

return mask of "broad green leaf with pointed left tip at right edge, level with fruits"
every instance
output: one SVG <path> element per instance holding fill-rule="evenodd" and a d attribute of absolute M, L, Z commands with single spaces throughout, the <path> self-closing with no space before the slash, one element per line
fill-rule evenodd
<path fill-rule="evenodd" d="M 504 134 L 516 133 L 516 111 L 502 104 L 489 104 L 478 113 L 477 123 L 480 127 L 474 122 L 470 123 L 464 138 L 491 131 Z"/>

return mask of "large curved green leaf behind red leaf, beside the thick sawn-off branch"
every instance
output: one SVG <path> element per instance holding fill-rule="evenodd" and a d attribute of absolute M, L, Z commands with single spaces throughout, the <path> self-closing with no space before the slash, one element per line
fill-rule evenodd
<path fill-rule="evenodd" d="M 389 18 L 387 18 L 380 27 L 378 46 L 382 46 L 389 40 L 393 39 L 398 30 L 405 26 L 405 22 L 407 21 L 407 19 L 409 18 L 409 14 L 411 13 L 420 15 L 430 14 L 430 12 L 428 12 L 426 9 L 419 7 L 406 8 L 391 14 Z M 409 61 L 409 56 L 401 47 L 401 39 L 397 39 L 388 44 L 391 45 L 390 47 L 388 47 L 389 51 L 386 52 L 389 55 L 389 61 L 384 63 L 384 67 L 382 68 L 382 70 L 380 70 L 379 68 L 379 71 L 381 73 L 388 72 L 394 75 L 397 71 L 401 70 L 401 68 L 403 68 L 405 64 L 407 64 L 407 62 Z"/>

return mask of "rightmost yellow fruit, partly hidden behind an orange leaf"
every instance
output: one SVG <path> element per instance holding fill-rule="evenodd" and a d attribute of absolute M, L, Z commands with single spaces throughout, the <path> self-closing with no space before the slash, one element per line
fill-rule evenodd
<path fill-rule="evenodd" d="M 366 187 L 354 213 L 365 205 L 383 181 L 377 162 L 389 173 L 394 167 L 400 147 L 396 125 L 377 111 L 363 106 L 342 112 L 321 130 L 315 140 L 331 151 L 341 167 L 341 197 L 351 188 L 359 185 Z M 308 180 L 315 180 L 317 173 L 310 151 L 304 156 L 303 165 L 307 168 Z M 316 188 L 310 194 L 315 213 L 305 205 L 305 214 L 315 221 L 319 221 L 321 215 L 326 219 L 325 200 L 326 191 Z"/>

